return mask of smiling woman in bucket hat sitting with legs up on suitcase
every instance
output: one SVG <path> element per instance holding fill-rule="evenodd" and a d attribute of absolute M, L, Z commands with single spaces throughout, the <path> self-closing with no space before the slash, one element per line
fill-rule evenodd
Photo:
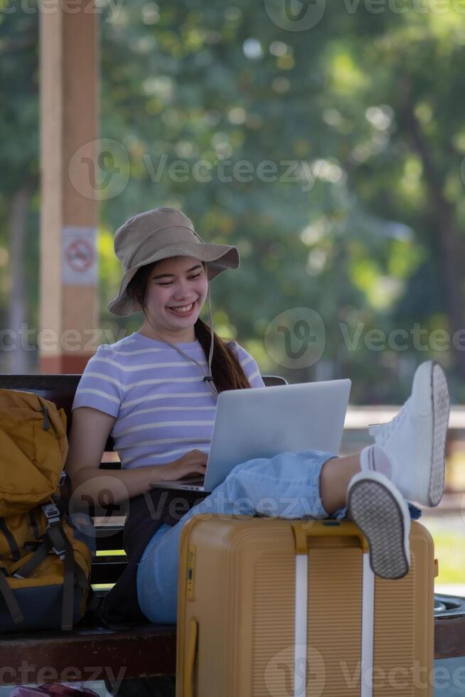
<path fill-rule="evenodd" d="M 449 398 L 442 369 L 431 361 L 419 366 L 410 399 L 392 422 L 373 430 L 375 445 L 360 453 L 307 450 L 252 459 L 238 463 L 202 500 L 198 494 L 197 500 L 188 494 L 180 499 L 179 492 L 167 497 L 151 485 L 205 472 L 218 393 L 263 386 L 252 356 L 213 332 L 209 281 L 237 268 L 239 255 L 235 247 L 203 243 L 176 208 L 127 220 L 114 249 L 124 276 L 108 309 L 119 316 L 142 309 L 144 324 L 100 346 L 87 364 L 73 403 L 67 462 L 76 495 L 97 501 L 105 477 L 114 501 L 130 499 L 129 563 L 104 614 L 176 622 L 183 524 L 194 514 L 266 515 L 270 499 L 273 514 L 287 518 L 342 518 L 347 506 L 368 538 L 373 571 L 384 578 L 405 575 L 405 498 L 435 506 L 444 486 Z M 210 327 L 199 319 L 207 297 Z M 110 433 L 122 469 L 108 484 L 108 472 L 98 467 Z M 179 506 L 173 511 L 173 496 L 183 504 L 181 513 Z"/>

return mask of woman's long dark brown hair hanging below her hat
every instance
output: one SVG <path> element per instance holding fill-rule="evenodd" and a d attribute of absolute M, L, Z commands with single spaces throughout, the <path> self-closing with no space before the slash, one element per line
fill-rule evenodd
<path fill-rule="evenodd" d="M 146 266 L 141 266 L 127 287 L 127 294 L 134 302 L 137 302 L 146 315 L 146 285 L 149 275 L 156 266 L 157 262 Z M 205 264 L 203 265 L 205 268 Z M 210 327 L 200 317 L 194 324 L 196 338 L 200 342 L 205 358 L 208 361 L 210 353 Z M 229 348 L 225 339 L 221 339 L 215 331 L 213 331 L 213 356 L 211 363 L 211 374 L 218 393 L 223 390 L 240 390 L 250 387 L 247 376 L 242 370 L 235 353 Z"/>

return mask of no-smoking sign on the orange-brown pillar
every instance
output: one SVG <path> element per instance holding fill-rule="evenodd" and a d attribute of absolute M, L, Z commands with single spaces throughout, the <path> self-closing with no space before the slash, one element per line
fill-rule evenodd
<path fill-rule="evenodd" d="M 63 283 L 97 285 L 97 229 L 63 228 Z"/>

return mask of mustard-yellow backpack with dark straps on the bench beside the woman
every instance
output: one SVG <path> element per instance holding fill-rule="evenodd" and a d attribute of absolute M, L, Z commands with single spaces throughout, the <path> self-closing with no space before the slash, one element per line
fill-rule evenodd
<path fill-rule="evenodd" d="M 85 612 L 90 518 L 64 514 L 67 454 L 63 409 L 0 389 L 0 632 L 72 629 Z"/>

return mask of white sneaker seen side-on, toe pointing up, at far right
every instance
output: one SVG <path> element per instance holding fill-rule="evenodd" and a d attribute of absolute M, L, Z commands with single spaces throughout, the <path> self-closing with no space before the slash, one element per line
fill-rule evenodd
<path fill-rule="evenodd" d="M 417 368 L 412 394 L 387 424 L 370 428 L 392 465 L 390 479 L 409 501 L 437 506 L 444 491 L 449 392 L 441 366 Z"/>

